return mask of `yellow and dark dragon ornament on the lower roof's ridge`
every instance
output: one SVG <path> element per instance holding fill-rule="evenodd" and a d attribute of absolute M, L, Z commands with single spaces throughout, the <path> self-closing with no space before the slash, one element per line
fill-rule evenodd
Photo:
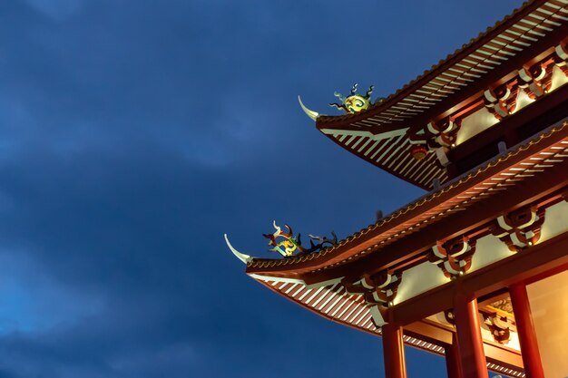
<path fill-rule="evenodd" d="M 294 256 L 295 253 L 296 256 L 298 256 L 317 252 L 321 248 L 326 247 L 326 245 L 335 246 L 338 244 L 337 235 L 335 232 L 331 231 L 333 238 L 308 235 L 310 238 L 309 248 L 302 247 L 301 235 L 298 234 L 298 237 L 294 237 L 292 228 L 290 228 L 289 225 L 284 225 L 284 227 L 288 229 L 288 232 L 282 231 L 282 228 L 276 225 L 276 220 L 272 222 L 272 225 L 276 231 L 272 234 L 262 234 L 262 236 L 269 239 L 269 246 L 271 247 L 269 251 L 278 252 L 283 257 Z M 317 243 L 314 243 L 314 240 L 316 240 Z"/>

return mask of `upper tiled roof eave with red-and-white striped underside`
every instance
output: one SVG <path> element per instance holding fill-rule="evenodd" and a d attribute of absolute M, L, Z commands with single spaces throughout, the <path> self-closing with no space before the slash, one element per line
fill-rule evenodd
<path fill-rule="evenodd" d="M 448 174 L 436 153 L 428 153 L 424 160 L 411 156 L 413 135 L 424 133 L 430 121 L 478 103 L 485 90 L 511 80 L 527 63 L 553 53 L 554 46 L 567 36 L 568 0 L 526 2 L 367 111 L 318 116 L 318 130 L 377 167 L 432 189 L 433 179 L 444 183 Z"/>

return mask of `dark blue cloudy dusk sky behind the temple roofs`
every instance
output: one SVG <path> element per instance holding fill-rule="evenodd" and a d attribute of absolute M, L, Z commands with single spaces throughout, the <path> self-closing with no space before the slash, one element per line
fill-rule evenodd
<path fill-rule="evenodd" d="M 300 110 L 386 97 L 516 1 L 0 2 L 0 378 L 383 376 L 381 339 L 244 274 L 424 194 Z M 406 348 L 409 376 L 444 359 Z"/>

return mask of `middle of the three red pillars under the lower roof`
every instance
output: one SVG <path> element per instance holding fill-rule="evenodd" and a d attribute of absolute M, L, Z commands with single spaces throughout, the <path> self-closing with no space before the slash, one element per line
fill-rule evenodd
<path fill-rule="evenodd" d="M 454 296 L 454 315 L 464 378 L 487 378 L 489 373 L 475 296 L 465 295 L 458 288 Z"/>

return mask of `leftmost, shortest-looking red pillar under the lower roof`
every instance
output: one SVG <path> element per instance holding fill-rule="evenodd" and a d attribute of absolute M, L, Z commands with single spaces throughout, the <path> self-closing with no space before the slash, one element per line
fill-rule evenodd
<path fill-rule="evenodd" d="M 382 326 L 383 355 L 385 356 L 385 376 L 387 378 L 406 378 L 405 344 L 402 327 L 393 324 Z"/>

